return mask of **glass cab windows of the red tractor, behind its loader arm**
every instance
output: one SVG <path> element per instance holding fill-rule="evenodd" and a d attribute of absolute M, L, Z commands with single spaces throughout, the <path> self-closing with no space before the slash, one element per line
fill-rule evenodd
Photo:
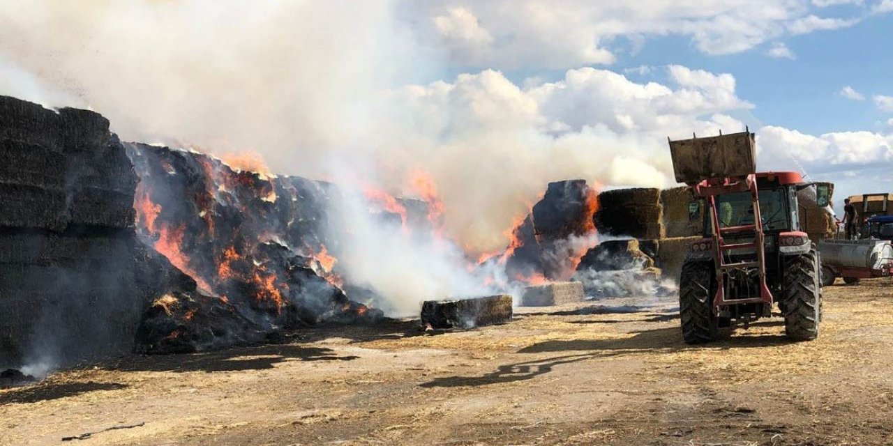
<path fill-rule="evenodd" d="M 760 191 L 760 212 L 764 230 L 772 231 L 789 227 L 783 188 Z M 716 196 L 716 215 L 721 227 L 753 225 L 754 212 L 749 192 Z"/>

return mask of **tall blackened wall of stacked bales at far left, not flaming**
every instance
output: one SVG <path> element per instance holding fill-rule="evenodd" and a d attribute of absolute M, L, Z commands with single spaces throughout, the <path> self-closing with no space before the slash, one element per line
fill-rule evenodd
<path fill-rule="evenodd" d="M 137 178 L 108 126 L 0 96 L 0 365 L 132 343 Z"/>

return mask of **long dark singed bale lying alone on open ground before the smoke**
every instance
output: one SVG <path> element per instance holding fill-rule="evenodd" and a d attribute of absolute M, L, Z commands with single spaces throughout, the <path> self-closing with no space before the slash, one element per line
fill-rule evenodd
<path fill-rule="evenodd" d="M 512 296 L 501 294 L 472 299 L 425 301 L 421 325 L 431 328 L 474 328 L 512 320 Z"/>

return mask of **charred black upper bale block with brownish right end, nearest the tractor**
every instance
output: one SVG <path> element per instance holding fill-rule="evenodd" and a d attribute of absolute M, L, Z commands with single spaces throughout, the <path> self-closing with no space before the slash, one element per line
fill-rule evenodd
<path fill-rule="evenodd" d="M 598 231 L 635 238 L 663 237 L 660 189 L 614 189 L 598 194 Z"/>

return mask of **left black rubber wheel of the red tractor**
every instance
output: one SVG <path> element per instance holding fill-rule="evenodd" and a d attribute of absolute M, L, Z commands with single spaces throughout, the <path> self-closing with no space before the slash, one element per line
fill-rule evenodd
<path fill-rule="evenodd" d="M 682 265 L 679 311 L 685 343 L 709 343 L 719 333 L 714 314 L 714 266 L 704 261 Z"/>

